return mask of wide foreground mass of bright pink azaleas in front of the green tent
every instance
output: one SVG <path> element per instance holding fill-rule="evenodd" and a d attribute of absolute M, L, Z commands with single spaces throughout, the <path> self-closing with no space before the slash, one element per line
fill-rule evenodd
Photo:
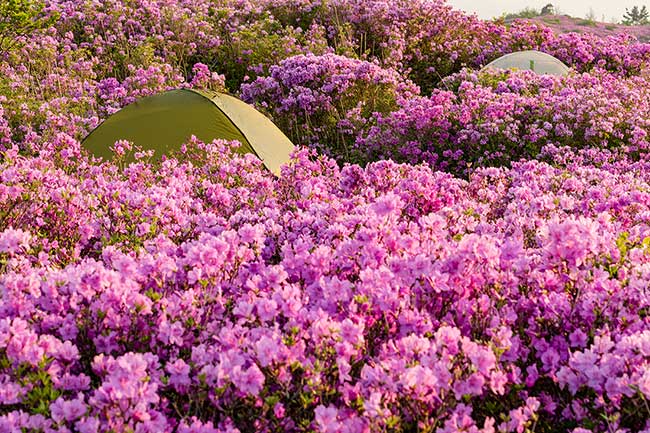
<path fill-rule="evenodd" d="M 650 428 L 650 162 L 234 147 L 5 153 L 3 431 Z"/>

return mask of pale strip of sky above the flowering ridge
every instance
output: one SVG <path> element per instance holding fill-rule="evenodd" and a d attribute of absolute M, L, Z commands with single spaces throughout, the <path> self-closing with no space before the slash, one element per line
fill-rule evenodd
<path fill-rule="evenodd" d="M 632 6 L 647 6 L 647 0 L 447 0 L 447 3 L 457 9 L 467 12 L 476 12 L 483 18 L 493 18 L 504 12 L 518 12 L 526 7 L 541 9 L 548 3 L 553 3 L 560 8 L 560 13 L 574 17 L 584 18 L 593 9 L 598 21 L 620 21 L 625 13 L 625 8 Z"/>

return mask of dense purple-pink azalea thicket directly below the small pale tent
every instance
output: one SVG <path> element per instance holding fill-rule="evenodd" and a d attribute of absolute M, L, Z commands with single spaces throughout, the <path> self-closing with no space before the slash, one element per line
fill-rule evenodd
<path fill-rule="evenodd" d="M 357 142 L 368 161 L 393 158 L 466 174 L 477 165 L 537 158 L 547 145 L 650 150 L 650 82 L 600 71 L 568 77 L 464 71 L 446 90 L 380 116 Z"/>

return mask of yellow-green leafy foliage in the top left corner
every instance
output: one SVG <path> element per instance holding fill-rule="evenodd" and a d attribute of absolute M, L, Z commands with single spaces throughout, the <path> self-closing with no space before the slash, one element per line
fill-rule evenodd
<path fill-rule="evenodd" d="M 0 55 L 8 52 L 22 36 L 47 28 L 56 17 L 45 16 L 43 3 L 34 0 L 0 0 Z"/>

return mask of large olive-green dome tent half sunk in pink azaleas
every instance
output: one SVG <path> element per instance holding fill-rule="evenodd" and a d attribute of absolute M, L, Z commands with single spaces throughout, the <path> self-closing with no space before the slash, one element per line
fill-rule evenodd
<path fill-rule="evenodd" d="M 178 89 L 139 99 L 116 112 L 83 141 L 93 155 L 110 159 L 110 147 L 129 140 L 160 158 L 195 135 L 203 142 L 238 140 L 240 153 L 253 153 L 273 173 L 289 160 L 293 144 L 262 113 L 217 92 Z"/>

